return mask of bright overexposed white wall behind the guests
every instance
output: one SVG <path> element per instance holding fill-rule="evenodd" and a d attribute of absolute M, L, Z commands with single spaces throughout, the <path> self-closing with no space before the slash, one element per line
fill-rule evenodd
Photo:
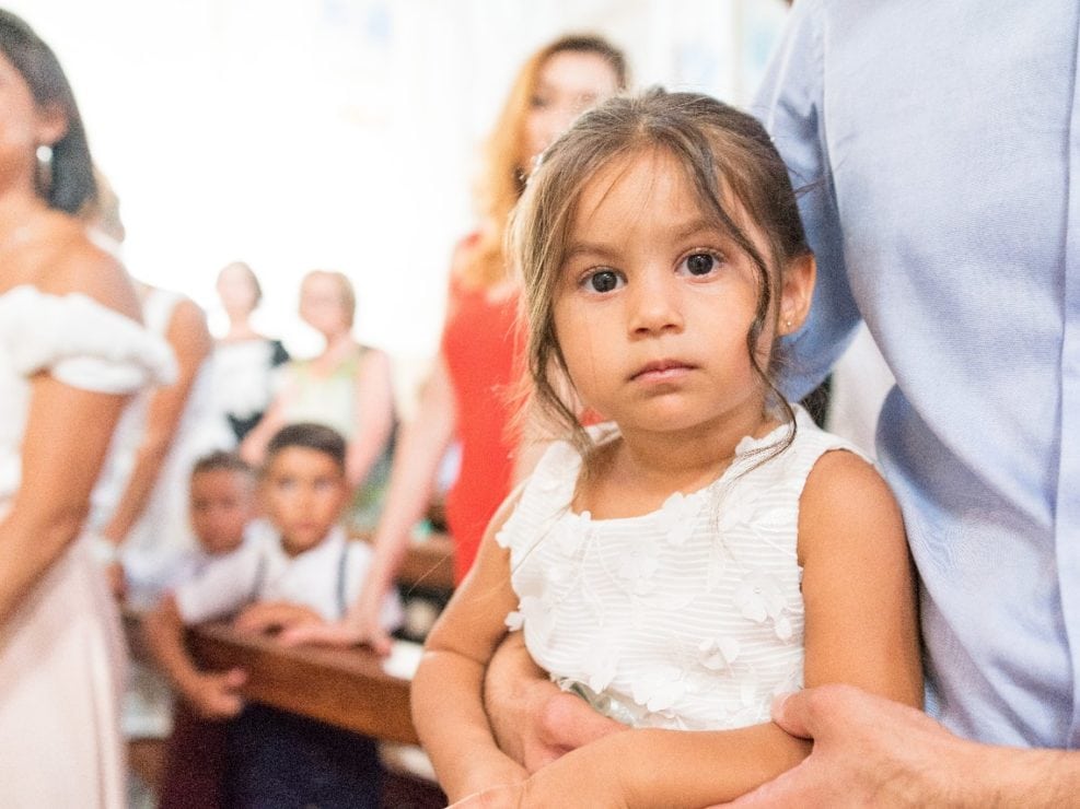
<path fill-rule="evenodd" d="M 299 278 L 340 269 L 357 335 L 422 372 L 476 150 L 513 72 L 566 31 L 628 51 L 637 86 L 750 99 L 781 0 L 9 0 L 53 46 L 116 187 L 133 274 L 220 326 L 243 259 L 260 325 L 311 353 Z"/>

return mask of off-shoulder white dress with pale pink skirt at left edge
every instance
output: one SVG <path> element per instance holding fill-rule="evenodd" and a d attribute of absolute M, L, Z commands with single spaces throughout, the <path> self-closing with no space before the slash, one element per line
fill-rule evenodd
<path fill-rule="evenodd" d="M 19 491 L 31 377 L 129 392 L 175 374 L 169 347 L 81 294 L 0 294 L 0 519 Z M 0 806 L 121 807 L 123 638 L 83 540 L 0 625 Z"/>

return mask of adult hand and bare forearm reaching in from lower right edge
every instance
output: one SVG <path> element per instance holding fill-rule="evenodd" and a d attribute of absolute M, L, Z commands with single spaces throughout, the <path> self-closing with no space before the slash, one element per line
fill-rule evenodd
<path fill-rule="evenodd" d="M 777 701 L 774 720 L 813 739 L 799 766 L 732 806 L 1068 806 L 1080 795 L 1080 752 L 979 744 L 920 711 L 846 685 Z"/>

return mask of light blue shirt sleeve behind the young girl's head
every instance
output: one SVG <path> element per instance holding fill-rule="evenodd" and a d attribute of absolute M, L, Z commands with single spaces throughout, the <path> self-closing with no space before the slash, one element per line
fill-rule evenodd
<path fill-rule="evenodd" d="M 859 309 L 848 284 L 844 233 L 829 163 L 824 54 L 827 30 L 821 0 L 799 0 L 773 56 L 752 113 L 783 157 L 817 259 L 817 283 L 806 324 L 786 338 L 780 388 L 801 399 L 828 374 L 855 335 Z"/>

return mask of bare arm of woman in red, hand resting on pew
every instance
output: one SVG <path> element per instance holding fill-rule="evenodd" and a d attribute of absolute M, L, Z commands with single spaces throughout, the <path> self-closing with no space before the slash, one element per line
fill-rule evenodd
<path fill-rule="evenodd" d="M 445 360 L 440 354 L 416 417 L 402 426 L 402 441 L 391 469 L 390 490 L 375 530 L 374 552 L 360 597 L 348 614 L 323 626 L 301 626 L 281 635 L 283 643 L 368 643 L 390 652 L 390 636 L 380 620 L 383 601 L 402 566 L 413 527 L 421 519 L 434 488 L 439 464 L 454 437 L 456 402 Z"/>

